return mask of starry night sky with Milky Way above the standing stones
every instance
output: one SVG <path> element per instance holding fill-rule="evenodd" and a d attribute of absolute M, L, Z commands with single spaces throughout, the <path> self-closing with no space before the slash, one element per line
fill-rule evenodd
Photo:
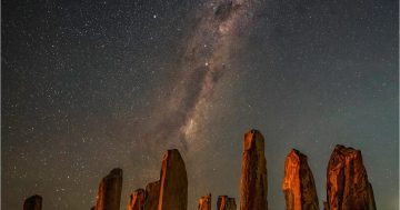
<path fill-rule="evenodd" d="M 189 208 L 234 197 L 243 134 L 266 138 L 268 201 L 284 158 L 309 157 L 320 202 L 337 143 L 360 149 L 380 210 L 399 208 L 398 1 L 1 2 L 1 206 L 90 209 L 123 169 L 129 193 L 167 149 Z M 320 208 L 322 206 L 320 204 Z"/>

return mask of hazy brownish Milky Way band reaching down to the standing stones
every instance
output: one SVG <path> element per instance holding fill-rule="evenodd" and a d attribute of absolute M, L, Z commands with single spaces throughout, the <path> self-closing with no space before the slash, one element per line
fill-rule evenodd
<path fill-rule="evenodd" d="M 164 104 L 154 110 L 158 116 L 146 128 L 149 131 L 144 131 L 143 139 L 134 141 L 133 147 L 140 142 L 143 153 L 150 157 L 178 148 L 191 163 L 188 168 L 194 174 L 190 181 L 199 179 L 206 166 L 197 157 L 204 156 L 211 144 L 202 133 L 207 132 L 208 119 L 212 118 L 209 110 L 216 87 L 221 80 L 232 86 L 231 77 L 237 69 L 231 68 L 231 59 L 238 56 L 234 51 L 238 46 L 246 44 L 254 13 L 262 6 L 261 2 L 222 0 L 203 2 L 198 8 L 192 17 L 193 26 L 179 43 L 183 50 L 172 91 Z M 159 159 L 144 162 L 151 166 L 147 167 L 150 173 L 158 173 Z"/>

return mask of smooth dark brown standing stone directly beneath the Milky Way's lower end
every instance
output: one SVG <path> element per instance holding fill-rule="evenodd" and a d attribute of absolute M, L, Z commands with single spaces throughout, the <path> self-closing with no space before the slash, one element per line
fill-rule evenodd
<path fill-rule="evenodd" d="M 162 160 L 158 210 L 187 210 L 188 176 L 177 149 L 168 150 Z"/>

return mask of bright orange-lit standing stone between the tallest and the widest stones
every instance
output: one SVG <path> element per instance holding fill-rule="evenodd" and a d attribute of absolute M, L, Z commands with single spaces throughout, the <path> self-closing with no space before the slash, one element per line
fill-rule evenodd
<path fill-rule="evenodd" d="M 284 162 L 282 190 L 287 210 L 319 210 L 314 179 L 307 156 L 292 149 Z"/>

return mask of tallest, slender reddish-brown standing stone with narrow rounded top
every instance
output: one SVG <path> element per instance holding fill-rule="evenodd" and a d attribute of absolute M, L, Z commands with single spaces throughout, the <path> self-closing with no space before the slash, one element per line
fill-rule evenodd
<path fill-rule="evenodd" d="M 258 130 L 244 134 L 240 210 L 267 210 L 267 160 L 264 139 Z"/>

